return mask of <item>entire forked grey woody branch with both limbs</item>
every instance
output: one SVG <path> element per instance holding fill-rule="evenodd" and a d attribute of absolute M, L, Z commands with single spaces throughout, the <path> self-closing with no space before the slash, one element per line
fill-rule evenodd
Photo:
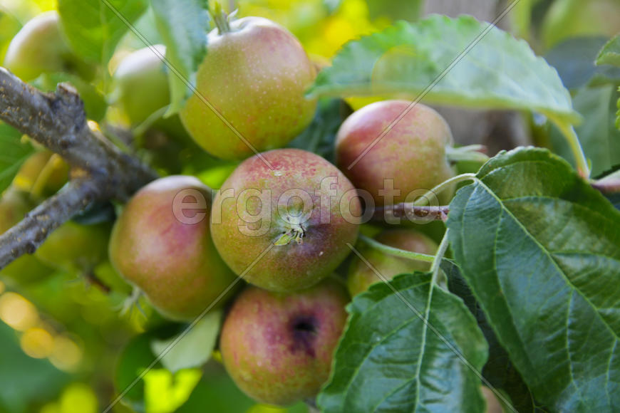
<path fill-rule="evenodd" d="M 61 155 L 71 182 L 0 236 L 0 268 L 33 253 L 63 222 L 104 199 L 125 201 L 155 172 L 112 145 L 86 122 L 84 105 L 71 85 L 42 93 L 0 68 L 0 120 Z"/>

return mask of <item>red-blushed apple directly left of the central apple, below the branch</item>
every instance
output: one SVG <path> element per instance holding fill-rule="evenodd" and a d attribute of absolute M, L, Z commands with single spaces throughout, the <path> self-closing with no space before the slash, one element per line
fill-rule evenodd
<path fill-rule="evenodd" d="M 173 200 L 183 189 L 204 196 L 205 219 L 184 224 L 175 217 Z M 160 178 L 130 199 L 112 231 L 110 262 L 172 320 L 200 315 L 236 278 L 213 246 L 210 202 L 210 189 L 195 177 Z"/>

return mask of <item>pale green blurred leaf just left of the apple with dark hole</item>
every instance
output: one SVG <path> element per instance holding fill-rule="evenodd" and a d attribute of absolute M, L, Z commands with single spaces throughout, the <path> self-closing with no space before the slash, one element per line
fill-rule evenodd
<path fill-rule="evenodd" d="M 173 345 L 161 360 L 162 365 L 173 373 L 181 369 L 200 367 L 211 358 L 221 323 L 222 312 L 212 311 L 182 338 L 175 335 L 166 340 L 155 339 L 150 343 L 150 348 L 153 354 L 160 355 L 168 346 Z"/>

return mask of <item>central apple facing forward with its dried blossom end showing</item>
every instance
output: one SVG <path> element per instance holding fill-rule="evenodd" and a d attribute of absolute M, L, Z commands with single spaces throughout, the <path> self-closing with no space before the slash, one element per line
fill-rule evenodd
<path fill-rule="evenodd" d="M 329 276 L 351 252 L 347 244 L 355 244 L 358 236 L 360 201 L 351 182 L 319 155 L 281 149 L 264 152 L 262 157 L 272 164 L 273 170 L 254 156 L 242 162 L 222 184 L 213 203 L 213 242 L 228 266 L 255 286 L 280 292 L 308 288 Z M 331 187 L 335 196 L 329 204 L 326 200 L 321 202 L 327 190 L 319 191 L 319 196 L 315 194 L 324 178 L 334 181 Z M 230 189 L 234 191 L 231 197 L 223 195 Z M 242 194 L 247 189 L 269 190 L 271 194 L 264 194 L 265 203 L 270 205 L 262 206 L 257 197 L 244 202 Z M 289 199 L 288 208 L 282 211 L 284 216 L 279 214 L 278 200 L 291 189 L 305 192 L 312 200 L 306 205 L 310 215 L 306 212 L 307 220 L 300 224 L 304 236 L 285 245 L 274 245 L 284 233 L 299 229 L 299 223 L 287 220 L 286 215 L 299 214 L 299 197 Z M 341 202 L 350 205 L 351 215 L 346 211 L 341 214 Z M 240 215 L 238 207 L 244 214 L 264 219 L 248 224 L 249 217 Z M 263 212 L 262 208 L 270 209 Z M 216 211 L 221 211 L 221 223 Z M 259 256 L 262 258 L 254 263 Z"/>

